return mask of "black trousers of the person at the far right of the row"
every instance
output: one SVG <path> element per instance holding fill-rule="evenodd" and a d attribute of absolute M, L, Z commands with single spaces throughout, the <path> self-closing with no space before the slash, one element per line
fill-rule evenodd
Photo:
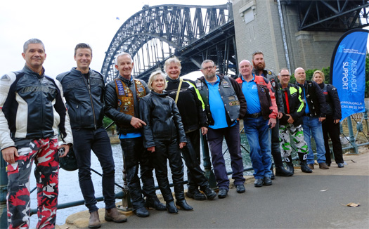
<path fill-rule="evenodd" d="M 325 118 L 322 123 L 323 138 L 325 146 L 325 163 L 331 164 L 332 159 L 330 159 L 330 148 L 329 148 L 329 137 L 332 140 L 333 154 L 335 155 L 336 163 L 344 163 L 344 158 L 342 157 L 342 144 L 339 139 L 339 123 L 335 124 L 333 122 L 333 117 L 329 116 Z M 328 136 L 329 134 L 329 136 Z"/>

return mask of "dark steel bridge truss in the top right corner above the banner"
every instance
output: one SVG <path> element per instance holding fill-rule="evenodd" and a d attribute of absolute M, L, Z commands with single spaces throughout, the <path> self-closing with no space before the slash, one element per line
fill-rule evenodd
<path fill-rule="evenodd" d="M 299 30 L 346 32 L 368 23 L 369 3 L 366 0 L 282 0 L 296 6 Z"/>

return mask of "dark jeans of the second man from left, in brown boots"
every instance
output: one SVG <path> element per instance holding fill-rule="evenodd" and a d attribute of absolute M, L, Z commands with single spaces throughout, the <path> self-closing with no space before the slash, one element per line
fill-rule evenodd
<path fill-rule="evenodd" d="M 78 164 L 79 187 L 84 204 L 89 212 L 97 211 L 95 190 L 91 180 L 91 150 L 98 157 L 103 169 L 103 197 L 105 209 L 115 207 L 115 164 L 112 158 L 110 138 L 103 127 L 94 129 L 72 129 L 73 150 Z"/>

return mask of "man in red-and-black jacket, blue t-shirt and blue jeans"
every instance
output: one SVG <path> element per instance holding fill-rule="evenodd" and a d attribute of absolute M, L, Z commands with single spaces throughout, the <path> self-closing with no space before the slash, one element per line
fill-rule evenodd
<path fill-rule="evenodd" d="M 254 186 L 271 185 L 271 140 L 269 128 L 276 125 L 276 98 L 268 79 L 252 74 L 249 60 L 239 63 L 241 77 L 236 79 L 242 86 L 247 102 L 243 126 L 250 145 L 250 158 L 254 168 Z M 260 144 L 263 143 L 263 144 Z"/>

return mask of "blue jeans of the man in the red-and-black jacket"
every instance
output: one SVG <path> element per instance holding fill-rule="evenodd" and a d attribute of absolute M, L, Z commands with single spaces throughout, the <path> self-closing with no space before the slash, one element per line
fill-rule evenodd
<path fill-rule="evenodd" d="M 245 117 L 243 126 L 250 145 L 250 158 L 254 178 L 271 177 L 271 137 L 268 119 Z"/>

